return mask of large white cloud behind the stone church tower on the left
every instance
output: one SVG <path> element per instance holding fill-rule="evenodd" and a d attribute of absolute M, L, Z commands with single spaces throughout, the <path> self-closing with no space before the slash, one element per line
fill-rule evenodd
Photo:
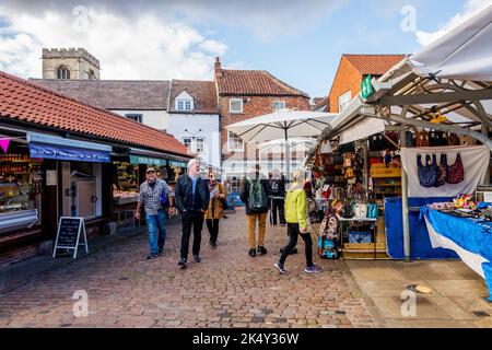
<path fill-rule="evenodd" d="M 104 8 L 40 14 L 0 8 L 0 69 L 40 77 L 43 47 L 84 47 L 102 63 L 104 79 L 212 79 L 213 56 L 227 45 L 180 22 L 152 13 L 128 18 Z"/>

